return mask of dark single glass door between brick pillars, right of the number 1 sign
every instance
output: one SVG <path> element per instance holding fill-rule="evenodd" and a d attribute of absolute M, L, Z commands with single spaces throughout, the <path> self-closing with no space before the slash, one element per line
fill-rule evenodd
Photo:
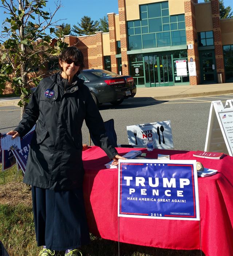
<path fill-rule="evenodd" d="M 200 51 L 201 83 L 217 83 L 214 50 Z"/>

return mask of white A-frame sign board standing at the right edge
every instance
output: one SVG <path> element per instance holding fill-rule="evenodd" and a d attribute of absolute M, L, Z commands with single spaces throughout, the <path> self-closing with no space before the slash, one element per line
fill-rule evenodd
<path fill-rule="evenodd" d="M 205 151 L 233 156 L 233 99 L 227 100 L 225 107 L 221 100 L 212 101 Z"/>

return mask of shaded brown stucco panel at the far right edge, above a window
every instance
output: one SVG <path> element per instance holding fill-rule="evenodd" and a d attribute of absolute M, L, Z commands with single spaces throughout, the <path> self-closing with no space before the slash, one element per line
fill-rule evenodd
<path fill-rule="evenodd" d="M 222 45 L 233 45 L 233 18 L 220 20 Z"/>

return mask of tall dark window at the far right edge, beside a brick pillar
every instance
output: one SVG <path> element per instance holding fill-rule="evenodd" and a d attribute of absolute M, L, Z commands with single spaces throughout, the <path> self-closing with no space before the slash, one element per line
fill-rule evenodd
<path fill-rule="evenodd" d="M 233 82 L 233 45 L 223 46 L 226 83 Z"/>

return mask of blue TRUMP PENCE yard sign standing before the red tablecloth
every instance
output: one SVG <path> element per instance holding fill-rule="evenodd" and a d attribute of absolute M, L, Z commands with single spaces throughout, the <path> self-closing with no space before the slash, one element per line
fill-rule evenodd
<path fill-rule="evenodd" d="M 118 216 L 200 220 L 196 160 L 119 160 Z"/>

